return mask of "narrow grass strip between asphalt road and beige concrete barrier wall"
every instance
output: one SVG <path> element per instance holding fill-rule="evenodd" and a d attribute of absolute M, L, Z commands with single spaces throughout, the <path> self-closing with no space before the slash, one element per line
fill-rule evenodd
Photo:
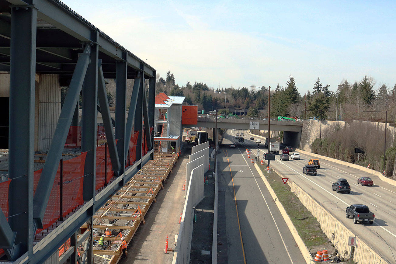
<path fill-rule="evenodd" d="M 267 173 L 265 165 L 259 165 L 266 176 L 272 190 L 289 215 L 301 239 L 308 248 L 320 247 L 329 243 L 329 239 L 320 229 L 318 220 L 308 211 L 301 201 L 290 190 L 289 185 L 283 184 L 282 177 L 275 172 Z M 285 190 L 286 188 L 286 190 Z"/>

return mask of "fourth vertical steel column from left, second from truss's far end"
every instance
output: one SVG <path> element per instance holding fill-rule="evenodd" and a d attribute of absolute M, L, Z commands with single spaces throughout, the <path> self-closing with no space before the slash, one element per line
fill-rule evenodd
<path fill-rule="evenodd" d="M 135 131 L 139 131 L 139 136 L 137 137 L 137 146 L 136 146 L 136 160 L 141 160 L 142 158 L 142 134 L 143 134 L 143 87 L 145 83 L 145 75 L 143 72 L 143 63 L 141 63 L 141 75 L 140 75 L 140 86 L 139 93 L 137 95 L 137 104 L 135 111 Z M 138 165 L 139 169 L 141 168 L 141 164 Z"/>

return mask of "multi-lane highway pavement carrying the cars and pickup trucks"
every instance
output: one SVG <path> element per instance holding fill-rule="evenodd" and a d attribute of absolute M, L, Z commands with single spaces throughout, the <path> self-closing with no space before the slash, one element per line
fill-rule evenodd
<path fill-rule="evenodd" d="M 228 130 L 233 137 L 240 131 Z M 250 137 L 263 139 L 257 135 L 249 135 L 245 131 L 244 143 L 236 142 L 236 146 L 242 149 L 248 148 L 254 158 L 257 154 L 257 143 L 250 141 Z M 260 150 L 260 158 L 267 149 Z M 291 152 L 293 153 L 293 152 Z M 301 160 L 281 161 L 280 156 L 276 156 L 275 161 L 271 161 L 271 167 L 276 169 L 282 176 L 296 182 L 304 188 L 313 198 L 333 214 L 338 220 L 351 230 L 354 234 L 364 239 L 364 241 L 375 249 L 380 255 L 390 263 L 396 263 L 396 186 L 383 182 L 379 177 L 365 173 L 358 169 L 340 165 L 331 161 L 320 160 L 320 169 L 316 176 L 302 173 L 303 166 L 311 158 L 301 154 Z M 244 153 L 246 157 L 246 152 Z M 313 157 L 312 157 L 313 158 Z M 367 176 L 373 179 L 373 186 L 361 186 L 357 184 L 357 179 Z M 331 190 L 331 185 L 339 178 L 348 180 L 351 186 L 350 194 L 339 193 Z M 352 219 L 345 217 L 345 208 L 351 204 L 365 204 L 375 214 L 373 225 L 353 224 Z"/>

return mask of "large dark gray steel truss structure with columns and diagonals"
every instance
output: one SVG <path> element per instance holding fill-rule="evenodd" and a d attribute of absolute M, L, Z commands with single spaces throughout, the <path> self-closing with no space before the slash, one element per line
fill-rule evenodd
<path fill-rule="evenodd" d="M 70 263 L 77 263 L 77 245 L 86 239 L 83 262 L 91 263 L 92 228 L 77 230 L 153 157 L 156 70 L 109 38 L 59 0 L 0 0 L 0 71 L 10 72 L 9 215 L 0 210 L 0 248 L 17 263 L 43 263 L 71 238 Z M 44 168 L 33 195 L 34 97 L 36 73 L 59 74 L 69 86 Z M 104 78 L 116 79 L 116 116 L 110 117 Z M 126 121 L 126 83 L 134 79 Z M 148 80 L 148 87 L 145 85 Z M 81 151 L 84 205 L 33 246 L 42 221 L 71 123 L 76 123 L 82 93 Z M 99 105 L 98 105 L 99 102 Z M 115 180 L 95 192 L 97 111 L 103 116 Z M 144 121 L 144 128 L 143 128 Z M 113 133 L 113 125 L 115 133 Z M 124 171 L 132 127 L 141 131 L 136 162 Z M 142 133 L 148 153 L 142 155 Z M 116 141 L 117 140 L 117 141 Z M 117 142 L 117 143 L 116 143 Z"/>

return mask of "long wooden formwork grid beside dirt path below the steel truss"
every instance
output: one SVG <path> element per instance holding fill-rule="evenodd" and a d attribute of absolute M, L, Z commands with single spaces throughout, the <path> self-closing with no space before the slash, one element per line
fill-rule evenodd
<path fill-rule="evenodd" d="M 106 228 L 112 231 L 113 236 L 105 238 L 109 245 L 104 250 L 93 250 L 95 263 L 118 263 L 122 256 L 121 235 L 129 245 L 140 223 L 145 224 L 144 217 L 152 202 L 156 202 L 160 189 L 164 188 L 163 182 L 177 159 L 177 152 L 154 152 L 154 159 L 148 161 L 97 211 L 93 217 L 93 239 L 98 241 Z M 80 230 L 83 233 L 87 228 L 87 224 L 84 224 Z"/>

